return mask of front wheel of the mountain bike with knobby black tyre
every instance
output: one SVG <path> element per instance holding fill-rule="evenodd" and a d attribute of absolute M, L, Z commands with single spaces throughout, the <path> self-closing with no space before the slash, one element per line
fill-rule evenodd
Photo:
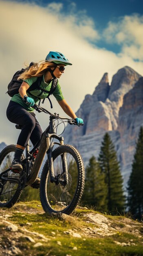
<path fill-rule="evenodd" d="M 70 214 L 79 203 L 83 190 L 85 171 L 78 150 L 70 145 L 59 146 L 53 151 L 53 168 L 57 182 L 51 183 L 46 161 L 40 182 L 40 200 L 45 212 Z M 63 161 L 67 163 L 67 173 Z M 64 160 L 63 160 L 64 159 Z"/>

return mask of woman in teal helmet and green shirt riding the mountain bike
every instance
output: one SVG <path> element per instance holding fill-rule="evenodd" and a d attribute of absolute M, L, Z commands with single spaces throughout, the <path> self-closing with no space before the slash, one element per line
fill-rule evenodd
<path fill-rule="evenodd" d="M 22 126 L 22 130 L 18 137 L 13 162 L 11 163 L 12 170 L 16 169 L 22 171 L 20 159 L 29 138 L 34 146 L 42 135 L 42 129 L 35 117 L 32 106 L 37 103 L 39 98 L 45 99 L 48 96 L 48 92 L 50 91 L 52 85 L 52 79 L 60 78 L 64 73 L 66 65 L 72 64 L 68 61 L 64 54 L 60 52 L 49 52 L 44 63 L 41 63 L 40 65 L 35 64 L 20 75 L 19 79 L 22 79 L 23 82 L 20 86 L 19 93 L 15 94 L 11 98 L 7 108 L 7 118 L 9 121 Z M 31 86 L 37 80 L 37 77 L 40 76 L 43 76 L 40 89 L 33 90 L 30 93 L 26 92 L 29 86 Z M 69 117 L 75 119 L 78 125 L 82 125 L 83 120 L 77 118 L 73 110 L 66 103 L 59 83 L 57 83 L 53 95 L 64 112 Z M 26 103 L 23 101 L 23 99 L 26 99 Z"/>

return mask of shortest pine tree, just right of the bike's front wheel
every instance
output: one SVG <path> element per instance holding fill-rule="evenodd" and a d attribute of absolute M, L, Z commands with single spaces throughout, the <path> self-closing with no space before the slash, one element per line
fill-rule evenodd
<path fill-rule="evenodd" d="M 96 206 L 99 210 L 107 210 L 106 193 L 107 187 L 104 182 L 104 174 L 96 158 L 92 156 L 86 167 L 86 179 L 82 201 L 84 204 Z"/>

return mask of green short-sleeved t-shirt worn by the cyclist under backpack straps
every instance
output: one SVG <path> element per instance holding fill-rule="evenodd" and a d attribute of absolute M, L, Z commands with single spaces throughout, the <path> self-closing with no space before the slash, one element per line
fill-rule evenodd
<path fill-rule="evenodd" d="M 31 78 L 28 78 L 28 79 L 24 79 L 23 81 L 28 83 L 29 86 L 31 86 L 35 81 L 37 80 L 37 77 L 34 76 L 34 77 L 31 77 Z M 46 90 L 46 91 L 50 91 L 51 89 L 51 85 L 52 85 L 52 81 L 50 83 L 46 83 L 44 81 L 44 75 L 43 75 L 43 79 L 42 79 L 42 82 L 40 84 L 40 88 Z M 35 103 L 37 103 L 37 101 L 39 101 L 38 98 L 40 99 L 45 99 L 47 96 L 48 96 L 48 93 L 47 92 L 44 92 L 42 90 L 39 90 L 39 89 L 35 89 L 33 91 L 30 91 L 30 93 L 32 94 L 29 94 L 27 92 L 27 95 L 29 97 L 31 97 Z M 57 86 L 55 88 L 55 91 L 53 92 L 53 95 L 54 97 L 56 98 L 57 101 L 62 101 L 64 99 L 63 97 L 63 94 L 62 94 L 62 90 L 61 90 L 61 87 L 59 85 L 59 81 L 57 82 Z M 38 98 L 37 98 L 38 97 Z M 33 112 L 34 108 L 32 107 L 29 107 L 26 103 L 24 103 L 22 101 L 22 97 L 20 96 L 20 94 L 15 94 L 12 98 L 11 98 L 11 101 L 14 101 L 18 104 L 20 104 L 21 106 L 23 106 L 28 112 Z"/>

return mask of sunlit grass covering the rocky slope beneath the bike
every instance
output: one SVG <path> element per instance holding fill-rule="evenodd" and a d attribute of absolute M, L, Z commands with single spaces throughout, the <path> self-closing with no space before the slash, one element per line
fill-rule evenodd
<path fill-rule="evenodd" d="M 96 223 L 86 222 L 89 213 L 96 214 L 98 212 L 93 209 L 77 208 L 71 215 L 73 216 L 72 221 L 63 221 L 44 213 L 39 201 L 18 203 L 11 209 L 2 208 L 0 214 L 11 215 L 7 220 L 18 225 L 18 231 L 21 234 L 31 236 L 35 243 L 41 242 L 42 246 L 34 247 L 34 243 L 27 241 L 23 235 L 16 236 L 16 232 L 6 231 L 0 222 L 1 246 L 11 247 L 10 240 L 13 239 L 16 246 L 22 251 L 22 256 L 143 256 L 143 227 L 141 223 L 130 220 L 132 227 L 135 226 L 134 229 L 138 229 L 140 232 L 139 234 L 130 233 L 125 230 L 128 219 L 125 222 L 125 217 L 104 215 L 108 218 L 110 227 L 115 228 L 114 234 L 109 236 L 107 234 L 103 237 L 94 233 L 91 235 L 83 234 L 82 231 L 85 227 L 92 229 L 100 227 Z M 27 224 L 27 222 L 32 225 Z M 45 241 L 38 235 L 26 234 L 23 228 L 43 234 L 48 240 Z M 69 229 L 81 234 L 81 238 L 65 234 L 64 231 Z M 117 245 L 115 241 L 128 245 Z M 21 254 L 17 255 L 20 256 Z"/>

